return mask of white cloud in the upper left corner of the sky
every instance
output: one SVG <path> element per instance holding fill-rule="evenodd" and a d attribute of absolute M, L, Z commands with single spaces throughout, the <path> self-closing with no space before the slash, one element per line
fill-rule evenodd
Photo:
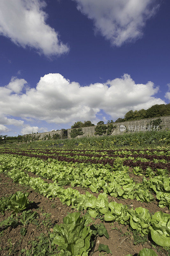
<path fill-rule="evenodd" d="M 62 54 L 69 48 L 59 40 L 58 32 L 46 24 L 44 1 L 1 0 L 0 35 L 15 44 L 30 46 L 45 55 Z"/>

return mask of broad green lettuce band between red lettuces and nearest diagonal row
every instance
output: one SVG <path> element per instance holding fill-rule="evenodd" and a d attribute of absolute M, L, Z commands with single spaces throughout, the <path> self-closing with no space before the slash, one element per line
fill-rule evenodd
<path fill-rule="evenodd" d="M 19 168 L 23 176 L 22 171 L 30 171 L 43 178 L 51 179 L 58 185 L 70 184 L 72 187 L 90 188 L 93 193 L 103 190 L 110 196 L 136 199 L 146 203 L 154 201 L 153 194 L 155 194 L 159 200 L 159 207 L 167 206 L 170 209 L 170 178 L 168 175 L 157 175 L 149 180 L 144 177 L 142 183 L 136 183 L 129 177 L 129 167 L 122 166 L 119 162 L 109 170 L 91 165 L 66 165 L 55 160 L 42 161 L 26 156 L 1 155 L 0 161 L 2 171 Z M 141 173 L 140 168 L 134 169 L 135 171 Z M 164 173 L 164 171 L 158 170 L 159 173 Z M 148 168 L 148 176 L 151 173 L 152 170 Z"/>

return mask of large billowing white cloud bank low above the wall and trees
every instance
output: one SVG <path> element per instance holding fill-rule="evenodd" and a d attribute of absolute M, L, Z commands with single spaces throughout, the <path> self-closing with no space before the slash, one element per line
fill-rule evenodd
<path fill-rule="evenodd" d="M 17 81 L 20 84 L 20 79 Z M 41 77 L 36 88 L 27 88 L 25 93 L 13 93 L 12 87 L 9 87 L 0 87 L 1 116 L 11 115 L 55 124 L 77 120 L 95 122 L 101 109 L 115 119 L 124 116 L 130 109 L 147 109 L 154 104 L 165 104 L 154 96 L 159 88 L 152 82 L 135 84 L 127 74 L 103 84 L 84 87 L 60 74 L 48 74 Z M 24 129 L 22 132 L 25 134 L 28 130 L 38 131 L 38 127 L 34 126 L 25 126 Z"/>

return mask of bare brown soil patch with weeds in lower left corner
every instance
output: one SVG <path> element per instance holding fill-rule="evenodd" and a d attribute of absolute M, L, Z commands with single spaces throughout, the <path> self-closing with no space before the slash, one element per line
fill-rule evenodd
<path fill-rule="evenodd" d="M 21 225 L 16 228 L 7 228 L 0 233 L 0 256 L 18 256 L 21 255 L 21 249 L 30 249 L 28 241 L 35 240 L 37 236 L 40 236 L 41 233 L 48 233 L 50 228 L 53 228 L 54 225 L 60 224 L 63 222 L 63 217 L 65 217 L 69 212 L 72 212 L 72 209 L 63 205 L 58 198 L 55 200 L 50 200 L 47 197 L 44 197 L 28 187 L 21 186 L 20 184 L 13 183 L 12 179 L 5 176 L 4 173 L 0 173 L 0 197 L 8 196 L 14 194 L 17 191 L 29 192 L 28 199 L 33 201 L 30 207 L 32 211 L 38 213 L 38 222 L 39 225 L 27 224 L 26 229 L 27 233 L 25 236 L 21 237 L 20 229 Z M 48 213 L 48 221 L 50 226 L 46 226 L 43 223 L 46 220 L 46 217 L 43 216 L 44 213 Z M 0 214 L 0 221 L 6 219 L 11 215 L 11 212 L 6 211 L 5 214 Z M 20 214 L 19 214 L 20 215 Z M 11 246 L 11 247 L 10 247 Z M 9 248 L 11 248 L 11 253 L 9 254 Z M 25 254 L 22 254 L 25 255 Z"/>

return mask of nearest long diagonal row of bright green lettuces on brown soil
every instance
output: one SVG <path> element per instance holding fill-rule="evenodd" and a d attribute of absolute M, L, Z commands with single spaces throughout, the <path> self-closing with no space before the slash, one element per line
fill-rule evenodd
<path fill-rule="evenodd" d="M 7 171 L 7 168 L 5 169 Z M 106 193 L 99 194 L 98 198 L 89 192 L 86 192 L 85 195 L 80 194 L 76 189 L 61 188 L 56 182 L 46 183 L 40 177 L 29 177 L 28 174 L 21 172 L 17 167 L 9 171 L 8 176 L 15 182 L 30 186 L 48 198 L 59 197 L 63 204 L 67 204 L 72 208 L 77 210 L 87 209 L 93 218 L 102 214 L 105 221 L 129 224 L 133 229 L 140 232 L 142 236 L 151 233 L 152 240 L 156 244 L 163 247 L 169 247 L 170 245 L 170 214 L 160 211 L 151 216 L 149 211 L 142 207 L 133 210 L 128 209 L 127 205 L 116 202 L 108 203 Z"/>

